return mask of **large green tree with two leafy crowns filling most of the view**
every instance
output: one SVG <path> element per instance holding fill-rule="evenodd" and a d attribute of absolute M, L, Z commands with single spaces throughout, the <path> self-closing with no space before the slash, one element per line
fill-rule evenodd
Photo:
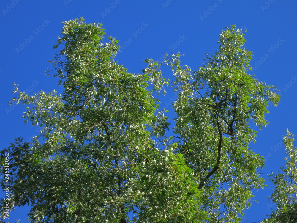
<path fill-rule="evenodd" d="M 63 24 L 54 48 L 64 48 L 51 61 L 63 94 L 14 91 L 40 134 L 1 151 L 12 160 L 10 208 L 31 205 L 31 222 L 240 222 L 252 189 L 264 186 L 249 123 L 266 126 L 268 103 L 279 102 L 273 86 L 247 73 L 244 33 L 226 27 L 198 71 L 176 54 L 146 59 L 143 73 L 131 74 L 101 24 Z M 178 93 L 170 137 L 157 99 L 170 84 L 162 64 Z"/>

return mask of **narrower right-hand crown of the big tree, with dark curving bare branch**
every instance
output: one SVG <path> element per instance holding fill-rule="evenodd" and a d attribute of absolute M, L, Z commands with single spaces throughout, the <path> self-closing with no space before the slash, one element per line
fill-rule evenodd
<path fill-rule="evenodd" d="M 244 45 L 244 34 L 231 26 L 220 34 L 219 51 L 208 56 L 198 71 L 180 65 L 179 54 L 166 61 L 176 80 L 178 99 L 175 134 L 180 136 L 176 153 L 199 179 L 202 197 L 199 207 L 213 222 L 240 222 L 250 206 L 252 189 L 263 188 L 258 169 L 263 157 L 249 148 L 255 141 L 253 121 L 262 128 L 268 122 L 268 102 L 279 95 L 247 74 L 252 53 Z"/>

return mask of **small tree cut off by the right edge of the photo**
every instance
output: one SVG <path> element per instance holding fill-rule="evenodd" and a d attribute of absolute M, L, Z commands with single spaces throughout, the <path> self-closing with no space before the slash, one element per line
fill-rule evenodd
<path fill-rule="evenodd" d="M 295 138 L 289 130 L 287 136 L 283 137 L 287 154 L 286 167 L 281 167 L 278 174 L 269 175 L 269 180 L 275 185 L 269 199 L 277 204 L 277 209 L 272 210 L 270 217 L 262 223 L 297 222 L 297 150 L 293 148 Z"/>

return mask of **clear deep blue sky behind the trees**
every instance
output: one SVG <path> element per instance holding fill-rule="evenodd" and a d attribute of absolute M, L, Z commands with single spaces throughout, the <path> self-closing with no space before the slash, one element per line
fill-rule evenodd
<path fill-rule="evenodd" d="M 271 106 L 267 119 L 269 126 L 258 133 L 257 142 L 250 147 L 266 158 L 261 171 L 267 174 L 279 170 L 285 164 L 282 136 L 287 128 L 297 134 L 297 73 L 296 73 L 296 8 L 297 1 L 236 1 L 236 0 L 51 0 L 25 1 L 2 0 L 0 3 L 0 95 L 1 95 L 1 146 L 8 147 L 15 137 L 30 141 L 39 129 L 24 125 L 23 105 L 9 106 L 13 95 L 13 83 L 19 89 L 34 94 L 40 90 L 50 92 L 57 87 L 57 78 L 45 76 L 48 63 L 56 53 L 53 45 L 61 36 L 62 21 L 85 18 L 86 23 L 102 23 L 108 36 L 117 37 L 122 51 L 117 60 L 131 73 L 141 73 L 146 68 L 146 58 L 159 59 L 162 54 L 181 52 L 181 64 L 192 70 L 203 65 L 205 53 L 217 50 L 218 35 L 230 24 L 247 30 L 245 47 L 253 52 L 250 65 L 259 81 L 278 86 L 282 95 L 277 107 Z M 128 45 L 129 44 L 129 45 Z M 126 47 L 125 47 L 126 46 Z M 167 68 L 167 67 L 166 67 Z M 256 69 L 255 69 L 256 68 Z M 52 72 L 52 74 L 54 74 Z M 164 69 L 164 76 L 172 73 Z M 176 98 L 167 89 L 161 107 L 170 109 Z M 172 110 L 171 110 L 172 111 Z M 170 113 L 170 118 L 174 112 Z M 296 146 L 295 146 L 296 147 Z M 263 219 L 271 208 L 267 200 L 272 185 L 255 191 L 252 207 L 246 211 L 244 222 Z M 3 198 L 4 193 L 1 191 Z M 27 221 L 28 207 L 16 208 L 10 221 Z"/>

